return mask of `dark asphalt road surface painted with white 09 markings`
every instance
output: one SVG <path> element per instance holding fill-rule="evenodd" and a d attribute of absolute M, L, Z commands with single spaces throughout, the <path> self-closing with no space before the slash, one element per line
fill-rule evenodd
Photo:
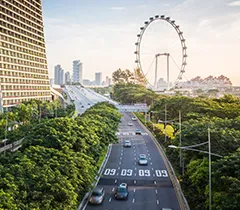
<path fill-rule="evenodd" d="M 132 114 L 124 113 L 117 136 L 119 143 L 113 145 L 108 162 L 103 170 L 98 186 L 105 189 L 102 205 L 87 204 L 87 210 L 160 210 L 170 208 L 179 210 L 179 203 L 168 171 L 151 137 L 138 121 L 132 121 Z M 128 122 L 132 121 L 133 126 Z M 140 129 L 142 135 L 135 135 Z M 132 147 L 124 148 L 125 140 Z M 138 164 L 139 154 L 146 154 L 148 165 Z M 120 183 L 127 183 L 128 200 L 115 200 L 114 189 Z"/>

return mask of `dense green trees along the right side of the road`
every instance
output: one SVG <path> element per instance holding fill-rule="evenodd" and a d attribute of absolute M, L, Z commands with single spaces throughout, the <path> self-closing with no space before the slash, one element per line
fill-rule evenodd
<path fill-rule="evenodd" d="M 181 146 L 190 146 L 208 141 L 210 129 L 212 156 L 212 209 L 238 210 L 240 206 L 240 99 L 225 95 L 222 98 L 189 98 L 184 96 L 156 96 L 153 103 L 147 89 L 136 84 L 118 83 L 113 87 L 113 96 L 123 103 L 146 102 L 151 104 L 146 126 L 164 148 L 181 183 L 191 209 L 209 208 L 208 155 L 182 150 L 180 167 L 179 111 L 181 114 Z M 154 96 L 155 94 L 155 96 Z M 165 106 L 167 110 L 165 141 Z M 145 123 L 144 113 L 138 113 Z M 162 122 L 162 123 L 161 123 Z M 171 127 L 171 129 L 170 129 Z M 198 147 L 208 151 L 208 144 Z"/>

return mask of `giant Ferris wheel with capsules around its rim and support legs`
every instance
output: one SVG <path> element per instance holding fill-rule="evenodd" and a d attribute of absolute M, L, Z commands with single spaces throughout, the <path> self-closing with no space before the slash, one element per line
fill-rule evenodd
<path fill-rule="evenodd" d="M 164 53 L 157 53 L 155 54 L 155 79 L 154 79 L 154 85 L 147 79 L 146 77 L 146 71 L 143 69 L 142 66 L 142 61 L 141 61 L 141 43 L 142 43 L 142 39 L 144 36 L 144 33 L 146 32 L 147 28 L 149 27 L 150 24 L 152 24 L 154 21 L 165 21 L 168 24 L 170 24 L 175 31 L 178 34 L 178 37 L 180 39 L 181 42 L 181 63 L 178 66 L 178 73 L 177 73 L 177 77 L 176 79 L 173 81 L 173 83 L 170 85 L 170 81 L 169 81 L 169 57 L 170 57 L 170 53 L 169 52 L 164 52 Z M 174 20 L 171 20 L 170 17 L 165 17 L 164 15 L 155 15 L 154 17 L 150 17 L 148 21 L 144 22 L 144 26 L 140 27 L 140 33 L 137 34 L 137 42 L 135 43 L 136 45 L 136 51 L 134 52 L 136 55 L 136 60 L 135 63 L 137 64 L 137 68 L 139 68 L 141 70 L 141 72 L 144 74 L 146 81 L 148 82 L 148 84 L 152 87 L 152 88 L 156 88 L 157 87 L 157 59 L 159 56 L 166 56 L 167 57 L 167 89 L 169 90 L 170 86 L 171 87 L 175 87 L 178 82 L 182 79 L 182 75 L 185 73 L 185 67 L 187 65 L 186 59 L 187 59 L 187 47 L 186 47 L 186 40 L 183 37 L 183 32 L 179 29 L 179 25 L 177 25 L 175 23 Z M 174 61 L 174 60 L 173 60 Z M 174 61 L 175 63 L 175 61 Z"/>

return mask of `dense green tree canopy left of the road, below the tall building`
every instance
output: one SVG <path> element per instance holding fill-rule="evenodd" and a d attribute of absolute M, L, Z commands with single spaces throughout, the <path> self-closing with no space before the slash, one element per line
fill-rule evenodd
<path fill-rule="evenodd" d="M 29 114 L 8 133 L 24 141 L 20 150 L 0 154 L 0 209 L 76 209 L 91 187 L 104 151 L 117 141 L 121 115 L 108 103 L 98 103 L 76 118 L 71 117 L 73 109 L 62 109 L 69 114 L 41 120 Z"/>

